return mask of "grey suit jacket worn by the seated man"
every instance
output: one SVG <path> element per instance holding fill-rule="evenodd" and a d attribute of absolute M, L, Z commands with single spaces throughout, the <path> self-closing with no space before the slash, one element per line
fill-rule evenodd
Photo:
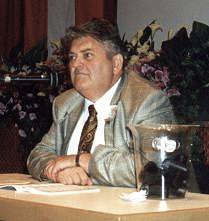
<path fill-rule="evenodd" d="M 41 180 L 46 164 L 67 153 L 69 139 L 80 117 L 84 98 L 74 89 L 56 97 L 54 122 L 28 157 L 28 170 Z M 133 146 L 128 124 L 172 123 L 173 112 L 163 92 L 134 73 L 124 74 L 111 101 L 115 116 L 105 123 L 105 145 L 96 147 L 89 164 L 95 184 L 135 186 Z"/>

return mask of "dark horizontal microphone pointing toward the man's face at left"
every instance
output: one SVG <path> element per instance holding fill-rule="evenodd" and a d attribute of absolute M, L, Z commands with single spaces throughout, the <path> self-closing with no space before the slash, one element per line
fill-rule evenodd
<path fill-rule="evenodd" d="M 57 72 L 43 72 L 40 74 L 21 74 L 11 75 L 10 73 L 4 73 L 3 75 L 0 74 L 0 83 L 46 83 L 52 88 L 58 87 L 64 81 L 63 74 Z"/>

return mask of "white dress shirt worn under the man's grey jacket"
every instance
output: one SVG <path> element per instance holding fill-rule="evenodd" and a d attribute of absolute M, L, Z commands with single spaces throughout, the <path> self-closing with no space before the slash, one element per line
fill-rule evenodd
<path fill-rule="evenodd" d="M 88 107 L 91 104 L 94 104 L 94 107 L 97 111 L 97 129 L 95 132 L 91 152 L 93 152 L 95 147 L 98 146 L 99 144 L 103 145 L 105 144 L 105 138 L 104 138 L 105 119 L 107 119 L 108 116 L 110 115 L 111 111 L 110 102 L 119 85 L 119 82 L 120 79 L 95 103 L 85 98 L 84 109 L 69 141 L 68 151 L 67 151 L 68 155 L 77 154 L 81 132 L 89 116 Z"/>

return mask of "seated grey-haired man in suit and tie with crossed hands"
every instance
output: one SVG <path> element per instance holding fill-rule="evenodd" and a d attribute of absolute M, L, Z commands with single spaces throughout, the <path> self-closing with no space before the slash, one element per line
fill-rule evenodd
<path fill-rule="evenodd" d="M 123 71 L 119 33 L 108 21 L 93 19 L 71 27 L 63 45 L 74 89 L 55 99 L 53 124 L 28 157 L 29 172 L 64 184 L 134 186 L 127 125 L 171 123 L 167 97 L 138 75 Z M 96 111 L 97 123 L 91 149 L 82 149 L 89 106 Z"/>

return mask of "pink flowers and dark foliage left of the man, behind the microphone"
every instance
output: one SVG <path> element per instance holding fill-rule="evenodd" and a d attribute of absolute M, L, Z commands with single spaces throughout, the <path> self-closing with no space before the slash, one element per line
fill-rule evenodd
<path fill-rule="evenodd" d="M 56 50 L 51 60 L 39 61 L 31 57 L 30 62 L 21 53 L 15 53 L 9 59 L 1 59 L 0 77 L 33 76 L 58 72 L 64 74 L 64 65 Z M 39 52 L 36 53 L 39 56 Z M 39 56 L 40 57 L 40 56 Z M 56 62 L 55 62 L 56 61 Z M 40 141 L 52 122 L 51 106 L 55 96 L 71 87 L 67 78 L 56 88 L 41 83 L 0 84 L 0 121 L 12 120 L 18 130 L 22 151 L 28 155 Z"/>

